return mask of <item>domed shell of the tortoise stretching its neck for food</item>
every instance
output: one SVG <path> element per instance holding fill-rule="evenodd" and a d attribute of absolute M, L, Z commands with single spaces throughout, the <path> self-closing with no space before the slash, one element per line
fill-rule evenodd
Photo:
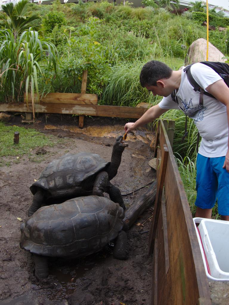
<path fill-rule="evenodd" d="M 85 179 L 103 170 L 108 164 L 110 162 L 95 153 L 65 154 L 49 163 L 30 190 L 35 195 L 37 188 L 42 188 L 58 196 L 58 192 L 62 193 L 63 189 L 80 186 Z"/>

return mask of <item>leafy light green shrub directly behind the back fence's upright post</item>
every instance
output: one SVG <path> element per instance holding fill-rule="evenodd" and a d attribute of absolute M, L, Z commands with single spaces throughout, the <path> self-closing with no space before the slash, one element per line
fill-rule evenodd
<path fill-rule="evenodd" d="M 88 70 L 87 92 L 98 95 L 102 93 L 111 69 L 112 56 L 115 54 L 107 52 L 107 46 L 96 41 L 98 31 L 100 31 L 99 19 L 90 17 L 81 30 L 84 35 L 73 37 L 68 42 L 68 48 L 59 61 L 58 80 L 62 89 L 63 85 L 60 84 L 62 81 L 67 84 L 67 91 L 78 86 L 82 81 L 83 70 Z"/>

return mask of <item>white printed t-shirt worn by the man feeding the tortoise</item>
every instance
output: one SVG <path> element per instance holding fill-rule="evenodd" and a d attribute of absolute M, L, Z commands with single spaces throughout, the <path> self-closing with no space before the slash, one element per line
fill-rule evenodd
<path fill-rule="evenodd" d="M 184 69 L 184 67 L 182 67 Z M 222 78 L 210 67 L 195 63 L 191 66 L 194 80 L 206 91 L 206 87 Z M 202 140 L 199 153 L 205 157 L 222 157 L 227 153 L 228 122 L 226 106 L 207 95 L 203 96 L 203 107 L 199 105 L 200 93 L 194 91 L 182 70 L 180 88 L 176 96 L 178 105 L 171 95 L 159 102 L 162 109 L 181 109 L 188 117 L 194 119 Z M 229 98 L 229 97 L 228 97 Z"/>

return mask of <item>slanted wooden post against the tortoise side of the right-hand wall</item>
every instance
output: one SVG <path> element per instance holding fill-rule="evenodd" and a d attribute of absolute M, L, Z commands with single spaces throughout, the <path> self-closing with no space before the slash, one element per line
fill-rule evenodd
<path fill-rule="evenodd" d="M 154 205 L 154 214 L 153 214 L 153 220 L 151 224 L 150 229 L 150 235 L 149 235 L 149 248 L 148 248 L 148 255 L 150 255 L 153 252 L 154 249 L 154 241 L 156 236 L 156 230 L 158 225 L 158 217 L 161 207 L 161 200 L 162 200 L 162 192 L 163 192 L 163 185 L 165 181 L 165 172 L 166 172 L 166 166 L 167 166 L 167 160 L 168 160 L 168 147 L 166 144 L 163 145 L 163 148 L 161 149 L 162 152 L 162 160 L 159 168 L 159 175 L 157 179 L 157 194 L 155 199 L 155 205 Z"/>

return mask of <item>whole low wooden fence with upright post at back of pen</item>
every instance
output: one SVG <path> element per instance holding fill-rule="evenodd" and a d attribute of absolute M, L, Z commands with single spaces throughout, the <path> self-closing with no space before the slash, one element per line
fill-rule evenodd
<path fill-rule="evenodd" d="M 44 94 L 44 97 L 34 105 L 35 113 L 75 114 L 79 116 L 79 127 L 83 128 L 85 115 L 138 119 L 147 110 L 137 107 L 97 105 L 97 95 L 86 93 L 86 85 L 87 71 L 85 70 L 82 76 L 81 93 Z M 28 95 L 28 103 L 0 103 L 1 111 L 33 113 L 31 95 Z"/>

